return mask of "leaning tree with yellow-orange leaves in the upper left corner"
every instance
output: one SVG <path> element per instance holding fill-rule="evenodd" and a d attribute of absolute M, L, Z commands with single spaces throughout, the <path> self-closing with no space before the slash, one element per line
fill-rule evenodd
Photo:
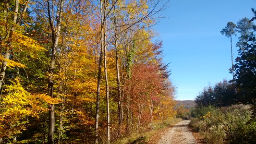
<path fill-rule="evenodd" d="M 31 38 L 27 36 L 24 36 L 22 32 L 16 30 L 17 27 L 19 27 L 21 31 L 24 28 L 24 26 L 21 26 L 21 22 L 23 21 L 24 16 L 26 15 L 26 10 L 29 3 L 30 3 L 30 0 L 24 0 L 21 3 L 19 2 L 19 0 L 15 0 L 14 3 L 11 1 L 5 1 L 1 3 L 1 6 L 5 6 L 1 8 L 3 8 L 2 14 L 6 15 L 6 17 L 1 19 L 1 27 L 4 27 L 3 28 L 4 31 L 0 32 L 1 34 L 0 36 L 1 37 L 0 38 L 0 48 L 1 48 L 0 90 L 2 88 L 2 84 L 4 83 L 7 67 L 10 67 L 10 66 L 22 67 L 22 68 L 25 67 L 23 64 L 19 62 L 10 60 L 10 57 L 12 55 L 15 56 L 13 49 L 14 50 L 20 49 L 19 46 L 23 46 L 27 48 L 28 42 L 31 42 L 32 45 L 37 46 L 37 42 L 33 41 Z M 20 12 L 19 12 L 19 9 L 20 9 Z M 21 40 L 18 40 L 18 39 L 21 39 Z"/>

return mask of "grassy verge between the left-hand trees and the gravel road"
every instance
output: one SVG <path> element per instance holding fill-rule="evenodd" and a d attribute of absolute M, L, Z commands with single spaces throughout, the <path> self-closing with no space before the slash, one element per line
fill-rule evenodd
<path fill-rule="evenodd" d="M 159 130 L 169 127 L 173 124 L 182 121 L 182 119 L 172 119 L 165 122 L 154 123 L 151 130 L 141 133 L 133 133 L 130 136 L 119 139 L 113 144 L 148 144 L 151 137 L 158 133 Z"/>

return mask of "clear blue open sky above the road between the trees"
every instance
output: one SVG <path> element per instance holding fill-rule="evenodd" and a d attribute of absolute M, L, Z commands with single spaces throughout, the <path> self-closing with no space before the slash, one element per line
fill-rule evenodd
<path fill-rule="evenodd" d="M 232 79 L 230 40 L 220 34 L 228 22 L 251 18 L 256 0 L 171 0 L 155 25 L 163 56 L 171 62 L 177 100 L 194 100 L 210 84 Z M 233 46 L 235 46 L 234 39 Z M 237 48 L 233 47 L 234 58 Z"/>

